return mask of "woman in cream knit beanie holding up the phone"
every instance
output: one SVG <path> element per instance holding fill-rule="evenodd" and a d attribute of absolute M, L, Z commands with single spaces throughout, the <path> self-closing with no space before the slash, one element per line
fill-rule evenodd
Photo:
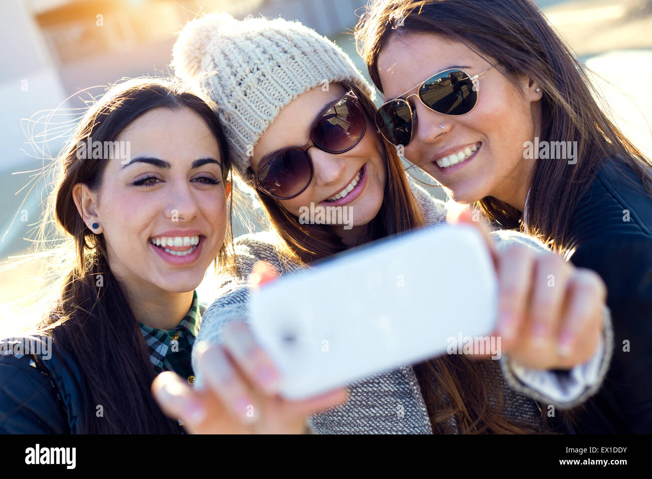
<path fill-rule="evenodd" d="M 285 274 L 444 220 L 443 203 L 408 184 L 396 149 L 372 126 L 370 86 L 327 38 L 297 22 L 214 14 L 186 25 L 173 66 L 220 108 L 241 183 L 256 190 L 273 227 L 235 241 L 237 280 L 273 276 L 254 267 L 259 259 Z M 349 221 L 328 214 L 305 221 L 306 208 L 329 206 L 348 210 Z M 242 286 L 218 298 L 203 318 L 203 343 L 193 352 L 196 388 L 162 374 L 153 385 L 156 398 L 192 432 L 561 430 L 548 422 L 550 407 L 584 401 L 608 366 L 604 287 L 597 275 L 518 233 L 490 242 L 501 289 L 496 334 L 507 353 L 499 363 L 434 358 L 349 385 L 344 403 L 338 403 L 344 391 L 333 392 L 325 411 L 325 397 L 286 401 L 276 395 L 278 372 L 243 325 L 248 287 Z M 535 282 L 548 274 L 561 287 Z M 532 312 L 541 301 L 546 328 L 533 331 Z M 570 373 L 554 371 L 561 369 Z"/>

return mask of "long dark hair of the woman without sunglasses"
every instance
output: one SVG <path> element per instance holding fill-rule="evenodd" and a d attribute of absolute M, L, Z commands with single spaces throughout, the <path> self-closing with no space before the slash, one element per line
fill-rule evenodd
<path fill-rule="evenodd" d="M 108 158 L 80 160 L 80 142 L 91 138 L 93 142 L 115 141 L 123 128 L 153 108 L 190 108 L 198 113 L 218 142 L 222 179 L 230 173 L 230 156 L 211 100 L 191 93 L 178 81 L 163 78 L 135 78 L 111 87 L 87 110 L 56 160 L 55 186 L 48 197 L 40 237 L 51 236 L 56 227 L 61 245 L 53 250 L 68 252 L 72 264 L 48 265 L 68 272 L 58 272 L 60 283 L 53 287 L 59 293 L 37 332 L 52 336 L 55 351 L 65 352 L 80 372 L 83 433 L 181 432 L 151 395 L 155 371 L 123 286 L 111 273 L 104 235 L 87 227 L 72 196 L 77 183 L 87 184 L 93 191 L 100 189 L 108 163 Z M 231 205 L 217 268 L 231 264 L 227 254 L 228 245 L 233 244 L 230 218 Z M 103 408 L 100 418 L 96 416 L 98 405 Z"/>

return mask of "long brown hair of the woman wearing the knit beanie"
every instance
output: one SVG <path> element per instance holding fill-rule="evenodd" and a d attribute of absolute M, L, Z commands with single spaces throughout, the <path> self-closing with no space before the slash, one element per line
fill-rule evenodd
<path fill-rule="evenodd" d="M 353 89 L 361 101 L 367 121 L 374 118 L 376 106 L 368 96 L 346 81 L 346 89 Z M 367 128 L 367 134 L 374 131 Z M 382 138 L 382 137 L 381 137 Z M 396 148 L 382 138 L 385 150 L 387 182 L 383 204 L 366 228 L 363 242 L 398 234 L 424 225 L 408 186 Z M 272 197 L 260 194 L 274 231 L 281 239 L 281 248 L 290 257 L 309 264 L 331 254 L 346 250 L 346 245 L 327 225 L 300 224 L 293 214 Z M 491 360 L 471 360 L 462 355 L 434 358 L 414 366 L 428 407 L 434 433 L 453 431 L 482 432 L 543 432 L 526 422 L 501 416 L 508 401 L 503 398 L 499 373 Z"/>

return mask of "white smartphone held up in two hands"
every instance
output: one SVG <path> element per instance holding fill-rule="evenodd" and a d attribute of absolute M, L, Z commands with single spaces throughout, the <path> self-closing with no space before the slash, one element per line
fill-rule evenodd
<path fill-rule="evenodd" d="M 260 287 L 252 330 L 303 399 L 487 336 L 497 279 L 481 233 L 438 225 L 373 242 Z"/>

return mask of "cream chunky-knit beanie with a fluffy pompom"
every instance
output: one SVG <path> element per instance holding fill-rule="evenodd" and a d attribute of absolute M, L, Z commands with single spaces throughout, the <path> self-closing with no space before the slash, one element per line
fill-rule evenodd
<path fill-rule="evenodd" d="M 294 98 L 341 80 L 374 94 L 341 48 L 282 18 L 239 21 L 210 14 L 183 28 L 172 54 L 175 74 L 217 104 L 233 166 L 249 186 L 248 155 Z"/>

